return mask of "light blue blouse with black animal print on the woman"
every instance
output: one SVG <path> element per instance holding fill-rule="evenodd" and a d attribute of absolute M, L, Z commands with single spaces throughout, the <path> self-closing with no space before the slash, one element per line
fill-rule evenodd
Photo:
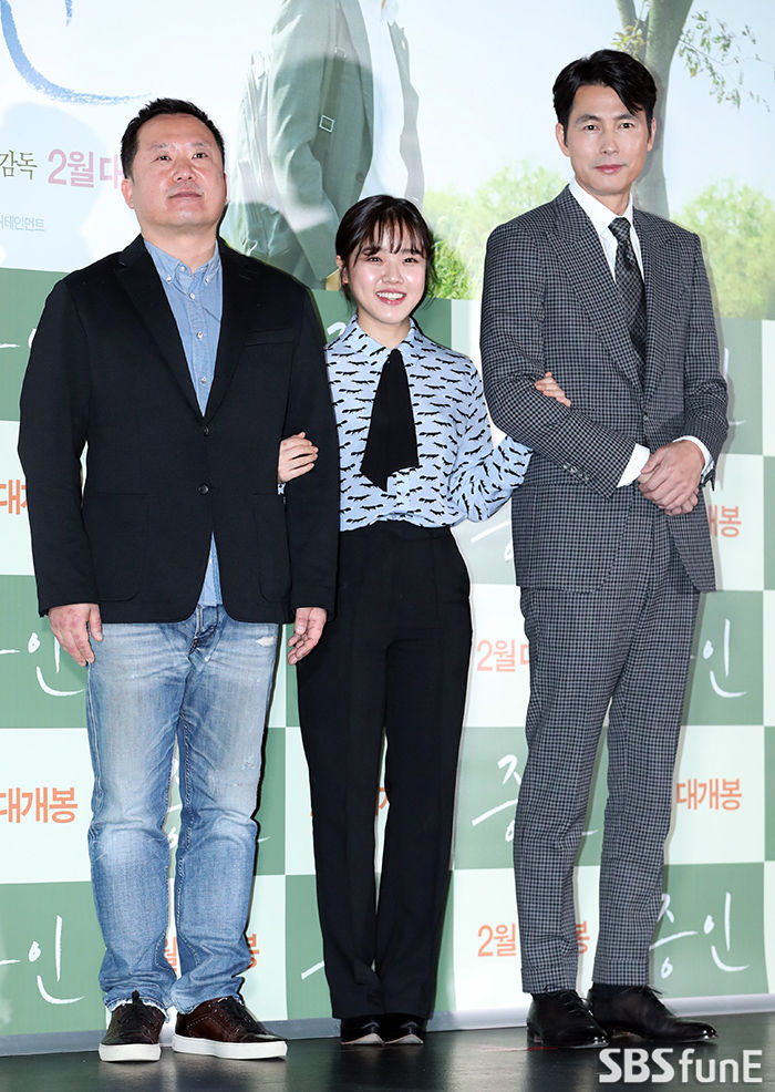
<path fill-rule="evenodd" d="M 353 317 L 326 350 L 340 445 L 340 527 L 407 519 L 442 527 L 486 519 L 521 483 L 530 450 L 506 437 L 493 450 L 482 379 L 467 357 L 431 341 L 412 322 L 397 347 L 409 379 L 418 467 L 397 471 L 388 492 L 361 472 L 371 408 L 390 349 Z"/>

